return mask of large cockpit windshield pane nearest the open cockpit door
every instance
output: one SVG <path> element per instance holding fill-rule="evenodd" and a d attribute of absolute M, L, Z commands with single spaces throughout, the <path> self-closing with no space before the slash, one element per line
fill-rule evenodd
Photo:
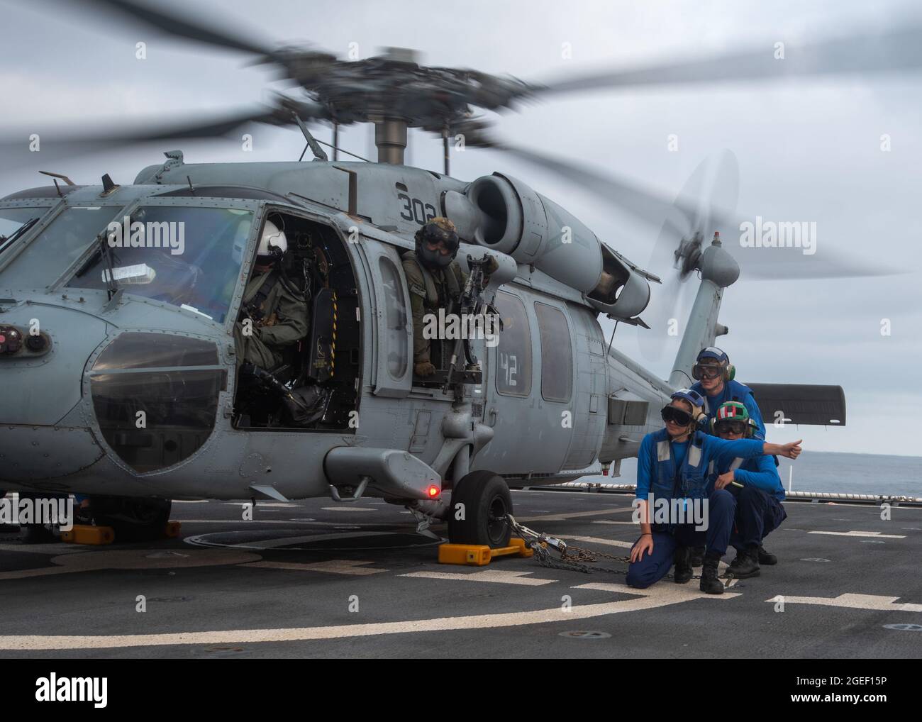
<path fill-rule="evenodd" d="M 136 208 L 130 226 L 112 229 L 112 275 L 124 292 L 171 303 L 224 323 L 253 213 L 238 208 Z M 68 287 L 105 289 L 108 264 L 90 255 Z"/>

